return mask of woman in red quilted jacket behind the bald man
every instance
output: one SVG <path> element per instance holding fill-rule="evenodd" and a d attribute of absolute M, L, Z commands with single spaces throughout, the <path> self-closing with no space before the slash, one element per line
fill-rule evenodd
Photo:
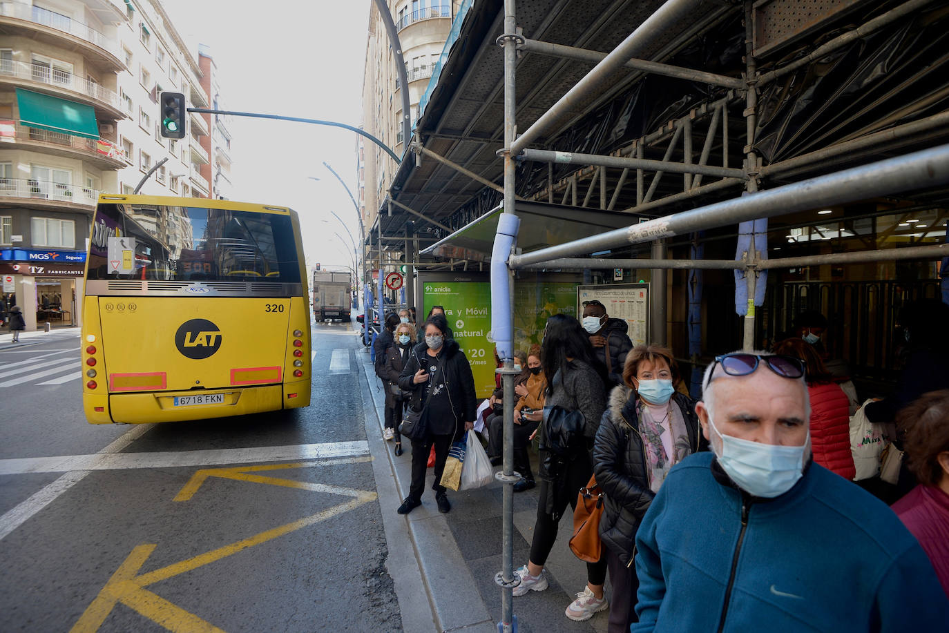
<path fill-rule="evenodd" d="M 821 357 L 803 339 L 788 339 L 775 345 L 775 354 L 795 356 L 805 364 L 805 380 L 810 399 L 810 444 L 814 462 L 853 479 L 857 475 L 850 455 L 849 400 L 833 382 Z"/>

